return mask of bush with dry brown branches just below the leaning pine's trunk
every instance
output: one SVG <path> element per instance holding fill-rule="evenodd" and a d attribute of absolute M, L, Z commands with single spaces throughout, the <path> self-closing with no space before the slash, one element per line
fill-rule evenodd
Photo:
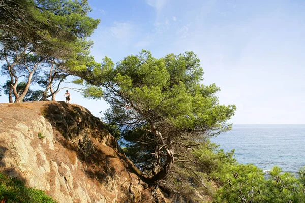
<path fill-rule="evenodd" d="M 224 152 L 206 139 L 196 150 L 192 161 L 177 163 L 175 173 L 168 176 L 162 187 L 171 189 L 168 196 L 174 202 L 209 202 L 218 186 L 226 182 L 225 174 L 236 164 L 234 150 Z"/>

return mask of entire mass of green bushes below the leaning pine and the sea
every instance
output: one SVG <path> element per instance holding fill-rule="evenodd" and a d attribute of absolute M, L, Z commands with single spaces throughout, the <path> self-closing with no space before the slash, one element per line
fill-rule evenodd
<path fill-rule="evenodd" d="M 218 147 L 207 139 L 193 151 L 196 164 L 175 165 L 162 184 L 165 191 L 174 188 L 168 197 L 175 202 L 305 202 L 305 167 L 297 177 L 279 167 L 266 175 L 252 164 L 237 163 L 234 150 L 225 153 Z"/>

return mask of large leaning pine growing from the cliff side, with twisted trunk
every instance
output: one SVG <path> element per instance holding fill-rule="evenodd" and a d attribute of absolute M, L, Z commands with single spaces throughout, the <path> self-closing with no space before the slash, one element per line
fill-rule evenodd
<path fill-rule="evenodd" d="M 220 105 L 219 88 L 202 84 L 202 76 L 193 52 L 156 59 L 143 50 L 116 66 L 105 58 L 82 77 L 103 87 L 110 131 L 120 131 L 129 157 L 147 173 L 147 182 L 156 183 L 175 163 L 191 161 L 190 152 L 206 136 L 231 127 L 227 120 L 235 106 Z"/>

